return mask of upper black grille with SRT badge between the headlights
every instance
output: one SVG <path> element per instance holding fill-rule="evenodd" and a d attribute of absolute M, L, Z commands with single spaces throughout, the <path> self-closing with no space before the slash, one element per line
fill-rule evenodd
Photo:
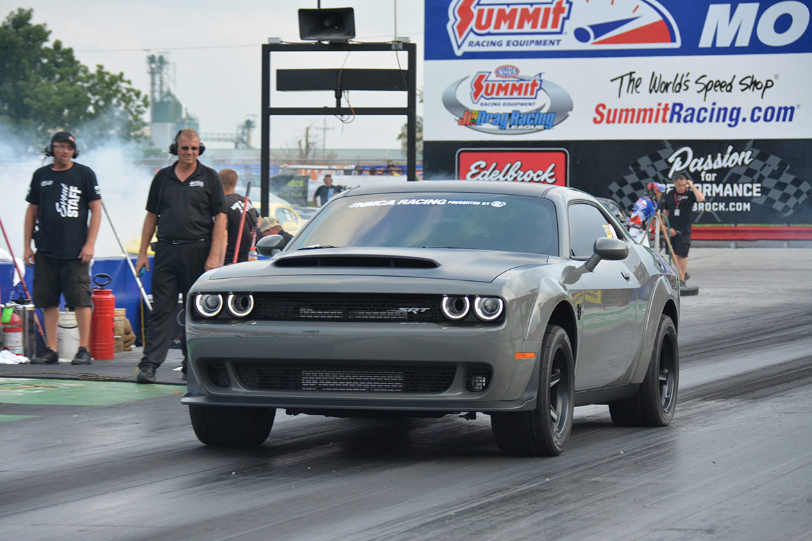
<path fill-rule="evenodd" d="M 440 296 L 424 294 L 254 294 L 252 318 L 277 321 L 444 321 Z"/>

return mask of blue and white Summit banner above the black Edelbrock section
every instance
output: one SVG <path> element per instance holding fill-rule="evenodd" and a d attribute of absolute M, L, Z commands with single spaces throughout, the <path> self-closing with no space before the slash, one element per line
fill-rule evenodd
<path fill-rule="evenodd" d="M 426 2 L 425 140 L 810 137 L 808 3 Z"/>

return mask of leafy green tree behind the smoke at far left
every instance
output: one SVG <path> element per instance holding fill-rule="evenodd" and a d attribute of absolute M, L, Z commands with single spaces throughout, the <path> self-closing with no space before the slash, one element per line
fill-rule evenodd
<path fill-rule="evenodd" d="M 147 97 L 123 73 L 81 64 L 73 49 L 32 24 L 33 10 L 12 11 L 0 26 L 0 124 L 28 149 L 41 148 L 58 130 L 84 148 L 106 140 L 144 140 Z"/>

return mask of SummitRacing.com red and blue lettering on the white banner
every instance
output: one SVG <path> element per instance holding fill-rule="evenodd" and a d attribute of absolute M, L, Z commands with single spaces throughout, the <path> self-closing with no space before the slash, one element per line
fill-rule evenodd
<path fill-rule="evenodd" d="M 721 107 L 712 103 L 709 107 L 689 107 L 678 101 L 658 103 L 656 107 L 609 107 L 605 103 L 595 105 L 594 124 L 727 124 L 736 127 L 740 122 L 793 122 L 793 105 L 756 105 L 742 114 L 742 108 Z"/>

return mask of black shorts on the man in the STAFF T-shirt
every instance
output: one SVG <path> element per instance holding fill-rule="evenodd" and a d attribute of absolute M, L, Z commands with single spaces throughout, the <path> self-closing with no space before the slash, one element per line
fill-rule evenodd
<path fill-rule="evenodd" d="M 37 308 L 59 306 L 59 294 L 65 295 L 67 307 L 92 306 L 88 264 L 75 260 L 55 260 L 34 254 L 34 305 Z"/>

